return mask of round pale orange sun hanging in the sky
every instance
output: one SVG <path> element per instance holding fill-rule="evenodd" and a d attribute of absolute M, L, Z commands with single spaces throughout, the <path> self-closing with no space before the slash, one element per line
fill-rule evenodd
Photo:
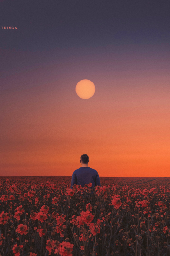
<path fill-rule="evenodd" d="M 80 80 L 76 85 L 76 93 L 81 99 L 89 99 L 94 95 L 95 85 L 88 79 Z"/>

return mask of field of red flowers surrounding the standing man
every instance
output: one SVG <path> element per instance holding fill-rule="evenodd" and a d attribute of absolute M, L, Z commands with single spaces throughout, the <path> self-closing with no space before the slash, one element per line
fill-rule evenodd
<path fill-rule="evenodd" d="M 169 256 L 170 178 L 0 177 L 0 256 Z"/>

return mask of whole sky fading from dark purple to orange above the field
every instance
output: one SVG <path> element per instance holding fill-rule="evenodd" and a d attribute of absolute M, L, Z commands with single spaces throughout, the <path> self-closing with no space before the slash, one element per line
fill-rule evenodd
<path fill-rule="evenodd" d="M 0 176 L 71 176 L 88 154 L 99 176 L 170 177 L 169 10 L 0 0 Z"/>

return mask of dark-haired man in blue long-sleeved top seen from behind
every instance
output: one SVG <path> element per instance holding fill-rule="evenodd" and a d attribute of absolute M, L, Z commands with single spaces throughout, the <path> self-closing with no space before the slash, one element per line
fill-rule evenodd
<path fill-rule="evenodd" d="M 89 156 L 87 154 L 82 154 L 80 158 L 80 163 L 82 167 L 75 170 L 72 174 L 71 188 L 74 184 L 81 185 L 84 187 L 86 184 L 92 183 L 92 187 L 101 186 L 100 178 L 98 172 L 90 167 L 88 167 Z"/>

